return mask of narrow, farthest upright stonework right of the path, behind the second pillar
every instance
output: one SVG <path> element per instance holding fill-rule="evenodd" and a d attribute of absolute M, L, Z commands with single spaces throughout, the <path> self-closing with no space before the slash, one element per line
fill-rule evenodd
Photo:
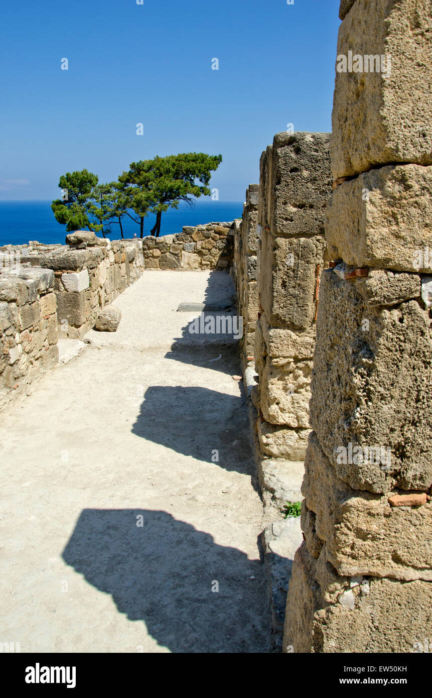
<path fill-rule="evenodd" d="M 253 361 L 255 325 L 258 318 L 257 245 L 259 184 L 249 184 L 241 221 L 235 221 L 234 263 L 232 272 L 236 283 L 237 311 L 243 318 L 240 341 L 244 366 Z"/>

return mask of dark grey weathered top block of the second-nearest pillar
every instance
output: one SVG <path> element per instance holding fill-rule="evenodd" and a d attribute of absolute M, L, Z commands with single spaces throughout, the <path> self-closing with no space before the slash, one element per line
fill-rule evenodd
<path fill-rule="evenodd" d="M 322 235 L 332 193 L 329 133 L 276 133 L 260 160 L 258 222 L 274 237 Z"/>

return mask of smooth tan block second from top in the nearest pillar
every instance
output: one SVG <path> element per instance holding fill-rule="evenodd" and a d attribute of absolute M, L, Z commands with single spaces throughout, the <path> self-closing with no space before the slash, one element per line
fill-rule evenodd
<path fill-rule="evenodd" d="M 355 267 L 431 271 L 431 221 L 432 167 L 389 165 L 365 172 L 337 186 L 330 199 L 329 257 Z"/>

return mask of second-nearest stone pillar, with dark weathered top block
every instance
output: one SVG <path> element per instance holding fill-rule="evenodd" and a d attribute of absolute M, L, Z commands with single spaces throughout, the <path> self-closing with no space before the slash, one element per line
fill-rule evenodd
<path fill-rule="evenodd" d="M 261 157 L 258 205 L 254 401 L 262 486 L 266 470 L 272 478 L 283 477 L 306 452 L 324 214 L 331 191 L 329 134 L 276 134 Z"/>

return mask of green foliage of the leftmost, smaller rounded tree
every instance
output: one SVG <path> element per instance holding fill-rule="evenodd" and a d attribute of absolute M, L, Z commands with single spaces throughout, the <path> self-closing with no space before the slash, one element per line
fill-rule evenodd
<path fill-rule="evenodd" d="M 97 174 L 88 170 L 66 172 L 61 175 L 59 188 L 67 190 L 67 198 L 54 200 L 51 208 L 57 221 L 66 225 L 67 232 L 90 228 L 86 205 L 96 184 L 98 184 Z"/>

